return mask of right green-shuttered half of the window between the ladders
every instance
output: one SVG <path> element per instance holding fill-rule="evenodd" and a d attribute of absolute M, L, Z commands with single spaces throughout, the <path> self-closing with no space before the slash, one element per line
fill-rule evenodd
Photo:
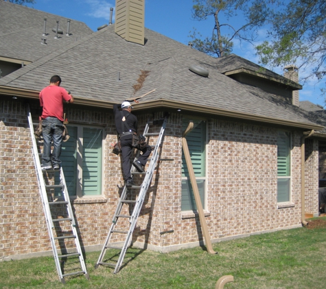
<path fill-rule="evenodd" d="M 82 154 L 82 194 L 101 194 L 102 129 L 84 127 Z"/>

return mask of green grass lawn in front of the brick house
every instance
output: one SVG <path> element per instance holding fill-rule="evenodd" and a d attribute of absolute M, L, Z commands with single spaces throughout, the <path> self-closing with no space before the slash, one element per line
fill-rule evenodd
<path fill-rule="evenodd" d="M 224 275 L 234 282 L 224 288 L 324 288 L 326 229 L 290 229 L 213 244 L 218 255 L 205 247 L 171 253 L 131 248 L 128 264 L 95 269 L 100 252 L 86 253 L 90 279 L 66 277 L 60 283 L 52 257 L 0 262 L 0 288 L 215 288 Z M 110 252 L 111 257 L 117 251 Z M 68 260 L 66 270 L 78 268 Z M 76 270 L 76 271 L 79 271 Z"/>

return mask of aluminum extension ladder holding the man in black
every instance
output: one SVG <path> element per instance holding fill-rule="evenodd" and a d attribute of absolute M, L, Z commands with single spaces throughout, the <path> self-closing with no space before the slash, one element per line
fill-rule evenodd
<path fill-rule="evenodd" d="M 141 211 L 141 206 L 143 205 L 143 201 L 145 199 L 146 192 L 147 192 L 148 187 L 150 186 L 150 183 L 152 181 L 152 175 L 153 175 L 154 169 L 156 167 L 156 162 L 157 162 L 157 160 L 159 158 L 159 147 L 161 146 L 161 142 L 163 141 L 163 136 L 164 136 L 164 132 L 165 132 L 165 125 L 167 123 L 167 116 L 165 116 L 165 118 L 163 118 L 161 121 L 153 121 L 153 125 L 155 123 L 160 123 L 160 124 L 162 123 L 161 130 L 160 130 L 159 133 L 148 133 L 149 121 L 146 124 L 144 132 L 143 132 L 143 136 L 145 136 L 145 138 L 147 138 L 147 141 L 148 141 L 148 137 L 150 137 L 150 136 L 158 136 L 157 141 L 156 141 L 156 145 L 154 147 L 154 151 L 152 151 L 152 156 L 150 158 L 150 164 L 148 165 L 148 170 L 146 172 L 144 172 L 144 173 L 138 173 L 134 166 L 131 167 L 132 175 L 145 174 L 145 177 L 143 179 L 143 183 L 141 184 L 141 186 L 131 186 L 131 187 L 124 186 L 124 190 L 121 193 L 121 197 L 119 199 L 117 209 L 115 210 L 115 214 L 113 216 L 113 221 L 112 221 L 112 225 L 110 226 L 110 231 L 108 232 L 108 236 L 106 237 L 106 241 L 105 241 L 104 247 L 103 247 L 103 249 L 102 249 L 102 251 L 100 253 L 100 257 L 97 260 L 97 263 L 95 264 L 95 268 L 97 268 L 99 265 L 112 266 L 112 267 L 115 267 L 114 273 L 118 273 L 119 270 L 120 270 L 121 264 L 124 261 L 124 256 L 126 255 L 126 251 L 127 251 L 128 247 L 130 246 L 130 243 L 131 243 L 132 232 L 135 229 L 137 219 L 138 219 L 139 213 Z M 137 151 L 137 156 L 139 156 L 139 153 L 140 153 L 140 151 Z M 136 159 L 137 159 L 137 157 L 136 157 Z M 127 192 L 130 189 L 140 189 L 138 197 L 136 198 L 136 200 L 128 200 L 128 199 L 126 199 Z M 135 205 L 134 209 L 132 210 L 131 216 L 121 214 L 121 209 L 123 208 L 124 204 L 126 204 L 126 205 Z M 130 223 L 129 229 L 123 229 L 123 230 L 115 229 L 115 227 L 117 225 L 117 222 L 119 221 L 119 218 L 122 218 L 124 220 L 126 220 L 126 218 L 130 219 L 129 220 L 129 223 Z M 126 240 L 124 241 L 124 244 L 123 244 L 122 247 L 119 247 L 116 244 L 110 243 L 111 237 L 115 233 L 116 234 L 126 234 Z M 119 253 L 119 259 L 117 260 L 117 263 L 103 262 L 104 256 L 106 254 L 107 249 L 119 249 L 119 250 L 121 250 L 120 253 Z"/>

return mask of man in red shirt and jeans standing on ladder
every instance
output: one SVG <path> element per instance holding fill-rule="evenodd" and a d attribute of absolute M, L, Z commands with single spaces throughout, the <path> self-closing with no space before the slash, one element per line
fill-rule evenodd
<path fill-rule="evenodd" d="M 43 129 L 43 155 L 42 169 L 60 170 L 60 153 L 63 132 L 63 102 L 73 103 L 73 96 L 69 95 L 65 88 L 60 87 L 61 78 L 54 75 L 50 79 L 50 85 L 40 92 L 40 106 L 42 112 Z M 51 155 L 51 142 L 54 149 Z"/>

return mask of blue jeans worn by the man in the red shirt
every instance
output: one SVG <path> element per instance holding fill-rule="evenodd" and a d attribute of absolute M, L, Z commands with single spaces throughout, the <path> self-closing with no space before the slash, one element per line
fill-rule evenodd
<path fill-rule="evenodd" d="M 60 153 L 62 145 L 63 123 L 56 117 L 48 116 L 42 121 L 43 127 L 43 155 L 42 165 L 52 166 L 58 164 L 60 166 Z M 51 155 L 51 142 L 53 141 L 54 149 Z"/>

